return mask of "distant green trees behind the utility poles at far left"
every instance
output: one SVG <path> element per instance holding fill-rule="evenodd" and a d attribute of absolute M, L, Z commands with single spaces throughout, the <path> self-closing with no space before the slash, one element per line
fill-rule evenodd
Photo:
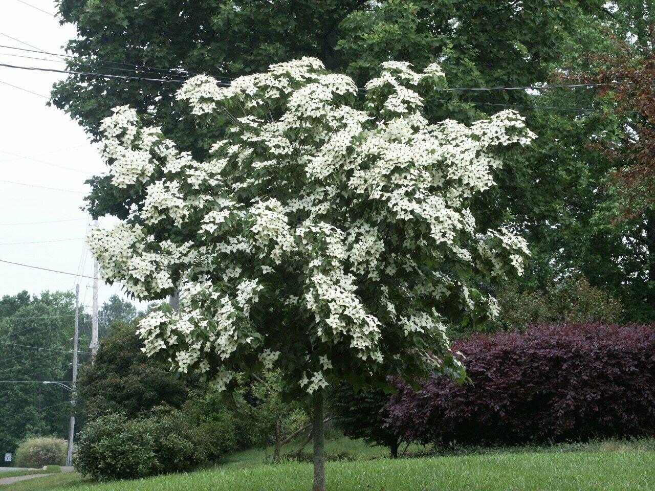
<path fill-rule="evenodd" d="M 31 435 L 67 435 L 69 392 L 42 381 L 71 380 L 74 300 L 26 291 L 0 300 L 0 452 Z"/>

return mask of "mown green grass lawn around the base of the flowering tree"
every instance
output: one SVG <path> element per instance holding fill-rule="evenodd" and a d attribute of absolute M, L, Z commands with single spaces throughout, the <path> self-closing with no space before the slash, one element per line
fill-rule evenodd
<path fill-rule="evenodd" d="M 364 449 L 360 442 L 333 441 L 328 451 Z M 485 455 L 387 460 L 384 449 L 367 448 L 375 460 L 327 464 L 331 491 L 641 491 L 655 490 L 655 452 L 502 452 Z M 375 453 L 377 452 L 377 454 Z M 354 453 L 354 452 L 353 452 Z M 263 452 L 248 450 L 212 469 L 136 481 L 98 484 L 58 474 L 2 486 L 2 491 L 307 491 L 310 464 L 263 465 Z"/>

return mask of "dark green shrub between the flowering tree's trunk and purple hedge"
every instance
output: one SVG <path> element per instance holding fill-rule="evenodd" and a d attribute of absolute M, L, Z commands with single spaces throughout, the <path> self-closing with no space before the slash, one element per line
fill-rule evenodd
<path fill-rule="evenodd" d="M 355 390 L 348 384 L 339 384 L 329 393 L 329 410 L 346 436 L 386 446 L 390 456 L 397 458 L 400 437 L 383 427 L 384 420 L 380 415 L 389 397 L 383 390 Z"/>

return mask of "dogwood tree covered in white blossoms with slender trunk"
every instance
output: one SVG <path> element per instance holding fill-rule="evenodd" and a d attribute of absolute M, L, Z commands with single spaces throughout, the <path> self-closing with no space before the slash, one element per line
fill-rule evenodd
<path fill-rule="evenodd" d="M 477 230 L 468 204 L 493 185 L 493 147 L 533 134 L 512 111 L 428 124 L 421 94 L 444 85 L 436 64 L 387 62 L 362 103 L 314 58 L 229 86 L 199 75 L 178 100 L 225 135 L 199 160 L 129 107 L 102 124 L 111 185 L 145 196 L 90 234 L 103 279 L 144 300 L 179 290 L 178 311 L 141 320 L 145 352 L 220 390 L 238 372 L 280 369 L 310 401 L 316 490 L 326 386 L 463 380 L 447 324 L 498 314 L 467 280 L 520 273 L 528 254 L 509 230 Z"/>

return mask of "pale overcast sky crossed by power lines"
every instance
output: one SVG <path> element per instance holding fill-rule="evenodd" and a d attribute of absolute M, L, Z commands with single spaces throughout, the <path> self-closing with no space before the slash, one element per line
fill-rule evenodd
<path fill-rule="evenodd" d="M 56 9 L 52 0 L 26 1 L 47 12 Z M 54 16 L 19 0 L 0 0 L 0 33 L 0 45 L 29 48 L 10 39 L 13 37 L 39 50 L 61 53 L 66 41 L 75 36 L 75 29 L 60 26 Z M 10 54 L 53 58 L 0 47 L 0 63 L 58 69 L 65 66 Z M 46 98 L 7 85 L 48 96 L 52 84 L 62 78 L 61 73 L 0 66 L 0 259 L 93 276 L 93 260 L 84 246 L 89 219 L 81 207 L 88 190 L 84 180 L 103 171 L 102 159 L 84 130 L 62 111 L 46 107 Z M 16 223 L 29 225 L 13 225 Z M 61 242 L 40 242 L 46 240 Z M 88 278 L 0 262 L 0 296 L 22 290 L 68 290 L 77 282 L 81 301 L 90 304 L 92 280 Z M 101 304 L 118 292 L 117 285 L 101 283 Z"/>

